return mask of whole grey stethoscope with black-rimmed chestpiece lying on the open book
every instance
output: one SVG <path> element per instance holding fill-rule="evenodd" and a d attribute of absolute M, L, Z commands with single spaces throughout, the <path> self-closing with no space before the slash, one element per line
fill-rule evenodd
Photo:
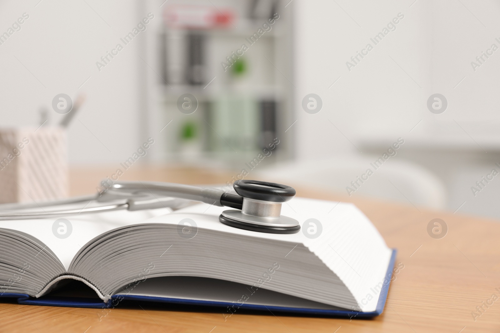
<path fill-rule="evenodd" d="M 43 219 L 121 209 L 180 208 L 188 201 L 199 201 L 234 208 L 219 215 L 219 221 L 231 227 L 273 234 L 294 234 L 300 230 L 297 220 L 281 216 L 281 204 L 295 196 L 292 187 L 257 180 L 237 180 L 233 188 L 237 195 L 217 188 L 183 184 L 114 182 L 105 192 L 97 195 L 37 204 L 0 205 L 0 220 Z M 84 203 L 86 205 L 81 209 L 74 207 Z"/>

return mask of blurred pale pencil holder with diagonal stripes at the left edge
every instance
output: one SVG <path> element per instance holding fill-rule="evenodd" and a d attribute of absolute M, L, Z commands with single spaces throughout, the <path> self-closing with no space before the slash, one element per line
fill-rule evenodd
<path fill-rule="evenodd" d="M 61 127 L 0 129 L 0 203 L 67 197 L 66 132 Z"/>

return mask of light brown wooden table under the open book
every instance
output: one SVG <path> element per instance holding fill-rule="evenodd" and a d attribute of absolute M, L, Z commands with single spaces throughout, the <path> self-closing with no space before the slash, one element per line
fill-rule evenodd
<path fill-rule="evenodd" d="M 94 192 L 97 182 L 114 170 L 113 166 L 73 169 L 71 194 Z M 231 176 L 195 168 L 134 166 L 120 179 L 215 184 Z M 224 322 L 217 312 L 137 307 L 112 309 L 99 321 L 102 310 L 98 309 L 0 304 L 0 332 L 500 332 L 500 224 L 496 221 L 313 189 L 297 188 L 297 195 L 355 203 L 387 245 L 398 250 L 396 263 L 404 268 L 390 285 L 382 315 L 351 321 L 234 314 Z M 447 224 L 444 238 L 427 234 L 427 224 L 434 218 Z M 474 321 L 471 313 L 492 294 L 499 299 L 489 308 L 483 306 Z"/>

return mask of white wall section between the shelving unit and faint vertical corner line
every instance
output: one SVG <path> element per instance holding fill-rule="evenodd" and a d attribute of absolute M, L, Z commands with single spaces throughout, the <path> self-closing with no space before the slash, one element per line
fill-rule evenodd
<path fill-rule="evenodd" d="M 421 119 L 422 100 L 431 90 L 431 23 L 425 1 L 411 7 L 406 2 L 293 2 L 298 158 L 357 152 L 348 140 L 356 145 L 363 137 L 383 134 L 395 140 Z M 377 45 L 371 42 L 399 12 L 404 18 L 396 29 Z M 346 61 L 367 43 L 373 49 L 349 71 Z M 323 101 L 317 114 L 301 108 L 308 93 Z"/>

